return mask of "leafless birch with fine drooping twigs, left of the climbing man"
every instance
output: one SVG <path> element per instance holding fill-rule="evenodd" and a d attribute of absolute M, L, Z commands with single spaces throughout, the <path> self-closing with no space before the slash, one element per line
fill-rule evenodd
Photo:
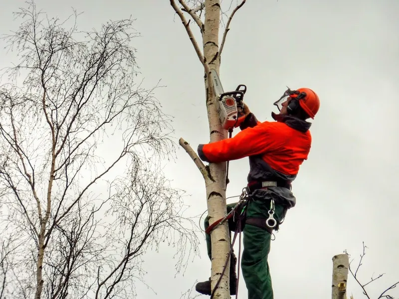
<path fill-rule="evenodd" d="M 0 298 L 132 298 L 142 256 L 165 242 L 176 269 L 196 250 L 171 118 L 136 82 L 132 19 L 77 29 L 33 1 L 5 38 L 18 63 L 0 87 Z"/>

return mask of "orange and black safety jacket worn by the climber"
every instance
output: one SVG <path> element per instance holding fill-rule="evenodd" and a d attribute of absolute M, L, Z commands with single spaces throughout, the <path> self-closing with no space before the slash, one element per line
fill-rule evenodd
<path fill-rule="evenodd" d="M 308 158 L 311 123 L 290 115 L 272 113 L 272 117 L 276 122 L 262 123 L 250 113 L 240 125 L 241 132 L 233 138 L 200 144 L 197 151 L 201 160 L 215 163 L 248 156 L 248 183 L 280 182 L 278 187 L 255 190 L 252 196 L 272 197 L 276 204 L 291 208 L 295 206 L 295 196 L 281 185 L 290 185 Z"/>

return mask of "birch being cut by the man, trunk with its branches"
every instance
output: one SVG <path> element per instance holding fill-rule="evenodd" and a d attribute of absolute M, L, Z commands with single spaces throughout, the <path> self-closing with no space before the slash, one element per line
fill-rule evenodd
<path fill-rule="evenodd" d="M 179 15 L 183 26 L 192 42 L 194 49 L 198 55 L 200 63 L 204 69 L 205 84 L 205 105 L 209 122 L 209 139 L 210 142 L 223 140 L 227 137 L 227 131 L 220 124 L 214 99 L 212 80 L 208 80 L 210 71 L 215 70 L 219 74 L 220 57 L 226 41 L 229 24 L 235 12 L 241 8 L 246 0 L 242 0 L 232 9 L 227 19 L 225 29 L 219 42 L 219 27 L 223 17 L 219 0 L 170 0 L 170 3 L 176 13 Z M 230 7 L 232 5 L 230 2 Z M 198 26 L 202 37 L 202 47 L 196 40 L 191 22 Z M 226 162 L 209 163 L 204 165 L 188 142 L 180 139 L 180 145 L 188 152 L 199 168 L 206 188 L 207 209 L 209 215 L 209 224 L 218 219 L 223 218 L 226 211 Z M 213 290 L 216 282 L 219 280 L 223 270 L 228 253 L 230 250 L 230 236 L 227 223 L 219 225 L 211 234 L 212 261 L 211 261 L 211 289 Z M 229 263 L 224 271 L 224 275 L 220 280 L 220 284 L 215 290 L 214 298 L 227 299 L 230 298 L 229 292 Z"/>

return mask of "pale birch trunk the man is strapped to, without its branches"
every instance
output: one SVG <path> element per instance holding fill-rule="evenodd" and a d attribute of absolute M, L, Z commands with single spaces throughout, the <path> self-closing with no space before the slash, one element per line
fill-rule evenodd
<path fill-rule="evenodd" d="M 204 61 L 208 62 L 209 69 L 214 69 L 219 74 L 220 57 L 219 50 L 219 0 L 205 0 L 205 21 L 203 31 L 203 54 Z M 218 113 L 214 105 L 213 90 L 208 88 L 210 74 L 205 73 L 206 110 L 209 121 L 210 142 L 216 142 L 227 137 L 227 131 L 220 125 Z M 209 224 L 223 218 L 226 211 L 226 163 L 210 163 L 208 179 L 205 178 L 207 209 Z M 212 240 L 212 261 L 211 261 L 211 289 L 213 290 L 219 280 L 223 266 L 230 251 L 230 234 L 227 222 L 214 229 L 211 234 Z M 230 298 L 229 292 L 229 268 L 227 268 L 214 293 L 214 298 Z"/>

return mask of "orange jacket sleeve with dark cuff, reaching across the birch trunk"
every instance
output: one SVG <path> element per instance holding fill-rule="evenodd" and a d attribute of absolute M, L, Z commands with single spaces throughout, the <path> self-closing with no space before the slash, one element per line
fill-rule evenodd
<path fill-rule="evenodd" d="M 242 130 L 233 138 L 199 145 L 197 149 L 199 157 L 205 162 L 218 163 L 277 149 L 281 146 L 281 142 L 269 124 L 259 123 L 253 128 Z"/>

